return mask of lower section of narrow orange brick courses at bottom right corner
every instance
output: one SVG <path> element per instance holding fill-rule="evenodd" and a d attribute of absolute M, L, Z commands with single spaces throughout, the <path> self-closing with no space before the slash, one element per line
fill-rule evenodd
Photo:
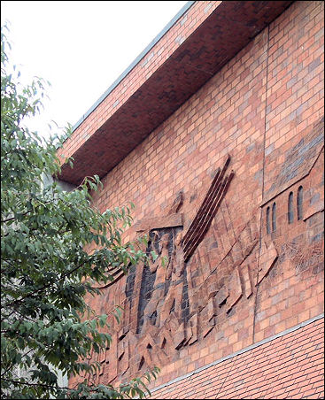
<path fill-rule="evenodd" d="M 151 398 L 324 398 L 324 319 L 153 389 Z"/>

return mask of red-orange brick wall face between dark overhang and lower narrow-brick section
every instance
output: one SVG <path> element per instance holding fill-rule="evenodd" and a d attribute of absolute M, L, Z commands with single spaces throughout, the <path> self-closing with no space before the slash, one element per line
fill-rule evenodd
<path fill-rule="evenodd" d="M 156 385 L 323 311 L 323 61 L 323 3 L 295 2 L 104 177 L 94 204 L 104 211 L 133 202 L 135 222 L 166 215 L 182 190 L 185 231 L 216 169 L 231 156 L 235 178 L 187 265 L 199 337 L 180 350 L 165 349 Z M 299 186 L 304 188 L 300 220 Z M 289 225 L 291 191 L 295 213 Z M 267 234 L 266 211 L 273 203 L 276 231 Z M 125 282 L 89 302 L 98 312 L 126 304 Z M 213 284 L 227 287 L 229 296 L 209 325 Z M 133 318 L 123 323 L 132 326 Z M 104 383 L 114 377 L 111 369 L 126 371 L 118 381 L 139 373 L 136 346 L 131 351 L 128 344 L 122 366 L 114 364 L 121 351 L 114 346 L 102 360 Z"/>

